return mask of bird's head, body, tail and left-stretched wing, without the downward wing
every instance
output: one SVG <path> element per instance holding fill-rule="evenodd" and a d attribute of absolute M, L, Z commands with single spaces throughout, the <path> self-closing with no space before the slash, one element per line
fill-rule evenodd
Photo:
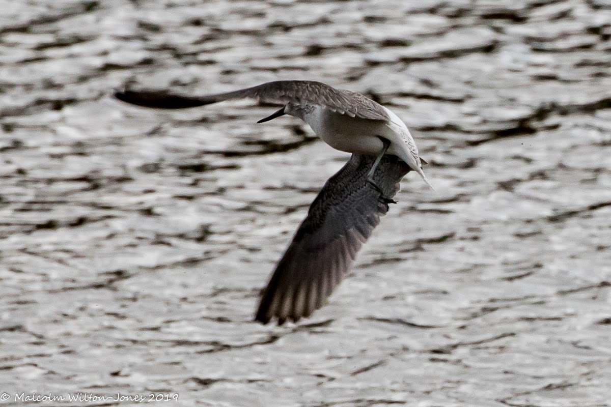
<path fill-rule="evenodd" d="M 183 109 L 229 99 L 252 98 L 282 109 L 257 123 L 283 115 L 309 124 L 325 143 L 352 154 L 392 154 L 416 171 L 434 190 L 408 127 L 390 109 L 360 93 L 335 89 L 316 81 L 274 81 L 216 95 L 183 96 L 166 90 L 117 90 L 117 99 L 159 109 Z M 390 145 L 384 141 L 390 142 Z"/>

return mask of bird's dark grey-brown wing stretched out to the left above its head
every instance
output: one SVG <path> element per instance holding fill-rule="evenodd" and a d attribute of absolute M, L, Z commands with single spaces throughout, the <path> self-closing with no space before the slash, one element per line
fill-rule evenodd
<path fill-rule="evenodd" d="M 315 81 L 274 81 L 218 93 L 183 96 L 164 90 L 116 90 L 115 97 L 127 103 L 157 109 L 185 109 L 230 99 L 257 99 L 270 104 L 315 104 L 334 112 L 369 120 L 389 120 L 386 110 L 375 101 L 349 90 L 335 89 Z"/>

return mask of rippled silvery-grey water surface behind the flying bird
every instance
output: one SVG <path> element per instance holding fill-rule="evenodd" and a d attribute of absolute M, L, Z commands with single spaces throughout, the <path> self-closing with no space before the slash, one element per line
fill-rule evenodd
<path fill-rule="evenodd" d="M 611 406 L 608 1 L 0 6 L 2 405 Z M 440 192 L 410 173 L 282 327 L 258 292 L 348 154 L 270 107 L 109 96 L 275 79 L 389 106 Z"/>

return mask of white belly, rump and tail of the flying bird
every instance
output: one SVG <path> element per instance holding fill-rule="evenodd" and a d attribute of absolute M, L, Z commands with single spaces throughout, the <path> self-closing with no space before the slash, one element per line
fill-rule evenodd
<path fill-rule="evenodd" d="M 407 126 L 395 113 L 386 107 L 384 110 L 390 117 L 389 121 L 350 117 L 316 106 L 304 115 L 303 120 L 325 143 L 346 153 L 375 156 L 384 148 L 379 137 L 389 140 L 390 147 L 387 154 L 397 156 L 406 162 L 434 190 L 422 171 L 418 148 Z"/>

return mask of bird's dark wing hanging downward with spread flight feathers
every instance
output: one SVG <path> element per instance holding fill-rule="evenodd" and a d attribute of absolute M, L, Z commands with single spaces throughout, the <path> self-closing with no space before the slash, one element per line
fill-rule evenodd
<path fill-rule="evenodd" d="M 373 161 L 374 157 L 353 154 L 324 184 L 263 290 L 255 320 L 268 323 L 276 317 L 282 324 L 307 317 L 340 283 L 389 209 L 367 182 Z M 384 156 L 374 180 L 392 198 L 408 171 L 397 157 Z"/>

